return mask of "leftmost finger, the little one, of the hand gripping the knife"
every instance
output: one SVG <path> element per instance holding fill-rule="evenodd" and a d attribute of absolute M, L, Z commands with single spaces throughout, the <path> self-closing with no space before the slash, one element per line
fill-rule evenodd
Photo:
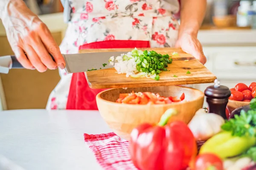
<path fill-rule="evenodd" d="M 20 62 L 20 64 L 26 68 L 26 69 L 31 69 L 31 70 L 35 70 L 35 67 L 31 64 L 31 62 L 29 61 L 29 59 L 26 57 L 24 51 L 22 50 L 22 48 L 16 46 L 12 48 L 15 56 L 18 60 L 18 62 Z"/>

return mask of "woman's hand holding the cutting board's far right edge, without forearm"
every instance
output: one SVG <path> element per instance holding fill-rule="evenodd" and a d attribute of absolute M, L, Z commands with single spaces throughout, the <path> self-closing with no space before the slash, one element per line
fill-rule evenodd
<path fill-rule="evenodd" d="M 175 44 L 175 47 L 181 48 L 184 52 L 191 54 L 202 64 L 205 64 L 207 61 L 206 57 L 204 56 L 201 43 L 198 41 L 197 37 L 193 36 L 192 34 L 181 34 Z"/>

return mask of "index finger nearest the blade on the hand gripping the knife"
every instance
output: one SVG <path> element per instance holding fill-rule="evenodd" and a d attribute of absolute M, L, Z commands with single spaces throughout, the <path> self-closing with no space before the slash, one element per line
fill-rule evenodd
<path fill-rule="evenodd" d="M 49 31 L 47 26 L 45 26 L 44 23 L 40 26 L 40 29 L 42 30 L 42 33 L 43 33 L 40 35 L 40 37 L 42 42 L 44 43 L 44 46 L 47 48 L 49 53 L 52 54 L 58 67 L 61 69 L 64 69 L 66 66 L 65 60 L 61 55 L 61 51 L 57 43 L 53 39 L 51 32 Z"/>

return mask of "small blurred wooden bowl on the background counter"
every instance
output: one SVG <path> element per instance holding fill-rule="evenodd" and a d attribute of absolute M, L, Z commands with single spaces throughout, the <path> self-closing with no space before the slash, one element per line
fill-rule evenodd
<path fill-rule="evenodd" d="M 236 16 L 227 15 L 224 17 L 212 17 L 212 22 L 216 27 L 225 28 L 225 27 L 235 27 L 236 26 Z"/>

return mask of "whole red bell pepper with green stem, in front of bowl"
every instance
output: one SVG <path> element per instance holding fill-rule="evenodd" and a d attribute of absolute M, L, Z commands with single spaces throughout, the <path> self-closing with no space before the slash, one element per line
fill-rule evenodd
<path fill-rule="evenodd" d="M 132 130 L 130 153 L 135 167 L 140 170 L 184 170 L 195 160 L 197 145 L 189 127 L 181 121 L 166 125 L 176 113 L 169 109 L 156 126 L 145 123 Z"/>

